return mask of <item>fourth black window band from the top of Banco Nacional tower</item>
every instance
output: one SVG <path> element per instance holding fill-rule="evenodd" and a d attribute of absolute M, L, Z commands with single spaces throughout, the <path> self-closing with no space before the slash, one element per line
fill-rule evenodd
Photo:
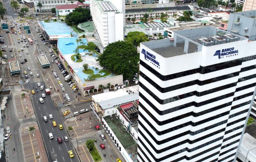
<path fill-rule="evenodd" d="M 166 110 L 163 110 L 163 111 L 160 111 L 154 104 L 152 104 L 152 102 L 150 102 L 150 100 L 148 100 L 148 98 L 146 98 L 141 92 L 139 93 L 139 96 L 145 101 L 147 102 L 147 104 L 150 105 L 150 107 L 152 107 L 152 109 L 154 109 L 154 111 L 156 111 L 156 113 L 158 113 L 159 115 L 165 115 L 165 114 L 168 114 L 168 113 L 172 113 L 174 111 L 178 111 L 178 110 L 181 110 L 181 109 L 185 109 L 187 107 L 191 107 L 191 106 L 195 106 L 195 107 L 200 107 L 200 106 L 203 106 L 205 104 L 209 104 L 209 103 L 212 103 L 212 102 L 215 102 L 215 101 L 218 101 L 218 100 L 222 100 L 224 98 L 228 98 L 228 97 L 231 97 L 231 96 L 234 96 L 234 92 L 231 92 L 229 94 L 224 94 L 222 96 L 217 96 L 215 98 L 211 98 L 209 100 L 205 100 L 205 101 L 202 101 L 202 102 L 189 102 L 189 103 L 186 103 L 186 104 L 182 104 L 182 105 L 179 105 L 177 107 L 173 107 L 173 108 L 170 108 L 170 109 L 166 109 Z"/>

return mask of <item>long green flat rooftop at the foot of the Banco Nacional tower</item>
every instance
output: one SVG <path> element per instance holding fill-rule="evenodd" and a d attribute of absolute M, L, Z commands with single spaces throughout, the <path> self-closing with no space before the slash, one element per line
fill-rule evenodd
<path fill-rule="evenodd" d="M 137 143 L 132 139 L 130 133 L 125 130 L 121 120 L 117 119 L 114 115 L 112 117 L 106 116 L 104 119 L 129 156 L 133 157 L 135 155 L 132 160 L 137 162 Z"/>

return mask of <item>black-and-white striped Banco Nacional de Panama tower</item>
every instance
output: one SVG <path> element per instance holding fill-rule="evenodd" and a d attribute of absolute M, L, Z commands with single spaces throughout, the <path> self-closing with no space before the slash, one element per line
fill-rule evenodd
<path fill-rule="evenodd" d="M 255 47 L 210 26 L 141 43 L 138 162 L 233 162 L 255 96 Z"/>

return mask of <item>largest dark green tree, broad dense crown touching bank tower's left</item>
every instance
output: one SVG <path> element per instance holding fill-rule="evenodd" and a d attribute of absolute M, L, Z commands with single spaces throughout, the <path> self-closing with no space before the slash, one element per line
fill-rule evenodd
<path fill-rule="evenodd" d="M 123 75 L 124 79 L 130 79 L 138 70 L 137 50 L 130 41 L 110 43 L 97 60 L 101 66 Z"/>

